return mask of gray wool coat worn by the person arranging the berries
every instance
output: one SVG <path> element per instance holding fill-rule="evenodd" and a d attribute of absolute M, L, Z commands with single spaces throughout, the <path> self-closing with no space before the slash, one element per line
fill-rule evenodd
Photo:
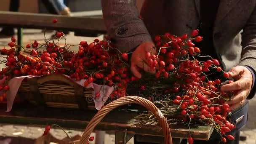
<path fill-rule="evenodd" d="M 191 34 L 200 23 L 200 0 L 145 0 L 139 19 L 136 0 L 101 0 L 109 37 L 127 52 L 170 32 Z M 256 0 L 220 0 L 213 44 L 229 70 L 247 65 L 256 71 Z"/>

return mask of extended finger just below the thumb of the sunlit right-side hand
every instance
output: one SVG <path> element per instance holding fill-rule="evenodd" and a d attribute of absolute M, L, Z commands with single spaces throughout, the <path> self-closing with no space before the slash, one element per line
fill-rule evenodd
<path fill-rule="evenodd" d="M 241 89 L 250 88 L 250 80 L 247 77 L 241 77 L 240 80 L 237 80 L 233 83 L 221 86 L 221 91 L 237 91 Z"/>

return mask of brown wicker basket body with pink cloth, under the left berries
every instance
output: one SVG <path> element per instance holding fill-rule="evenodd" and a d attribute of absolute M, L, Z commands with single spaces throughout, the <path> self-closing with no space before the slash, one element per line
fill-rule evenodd
<path fill-rule="evenodd" d="M 84 88 L 60 74 L 26 78 L 18 95 L 41 106 L 95 109 L 93 89 Z"/>

